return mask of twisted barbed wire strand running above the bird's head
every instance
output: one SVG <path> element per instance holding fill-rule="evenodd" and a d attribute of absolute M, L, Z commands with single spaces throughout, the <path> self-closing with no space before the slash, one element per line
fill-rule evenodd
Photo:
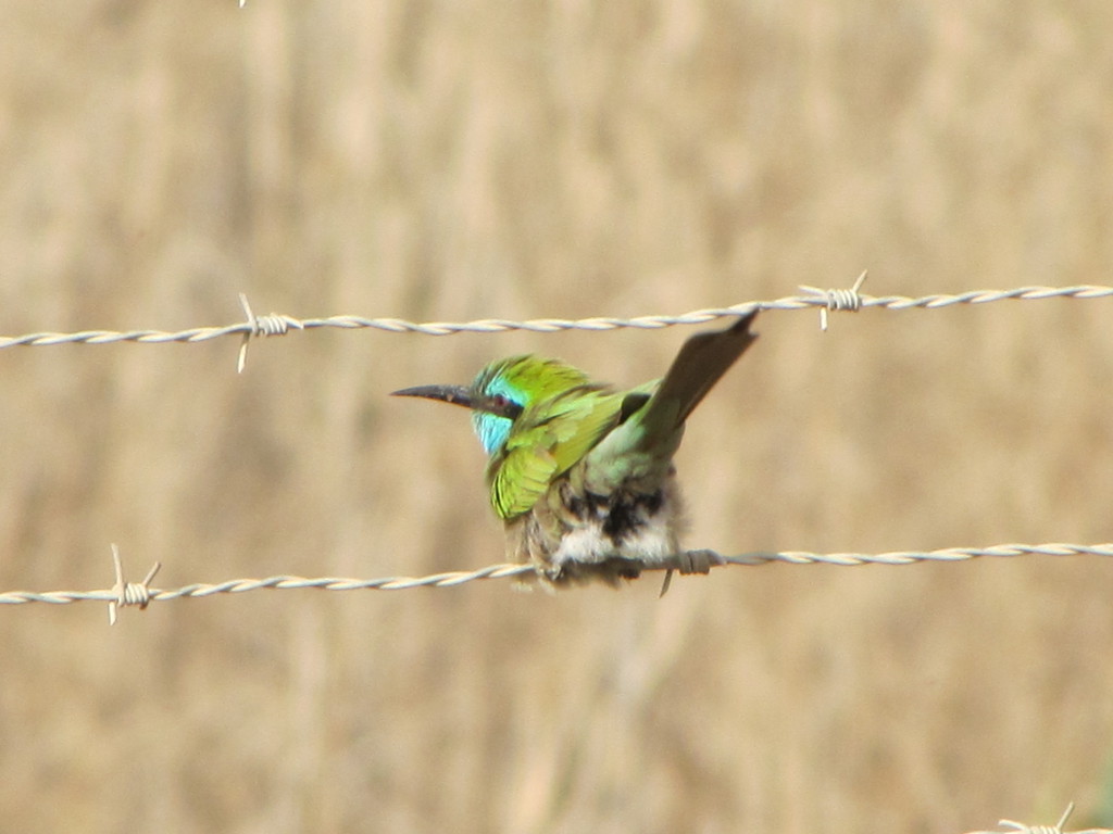
<path fill-rule="evenodd" d="M 859 282 L 856 285 L 860 286 Z M 890 310 L 913 308 L 938 309 L 961 304 L 988 304 L 1006 299 L 1043 300 L 1047 298 L 1107 298 L 1113 296 L 1113 287 L 1100 285 L 1077 285 L 1073 287 L 1017 287 L 1015 289 L 979 289 L 958 295 L 910 296 L 865 296 L 855 288 L 841 290 L 816 290 L 807 288 L 811 295 L 788 296 L 771 301 L 742 301 L 730 307 L 710 307 L 692 310 L 679 316 L 636 316 L 633 318 L 595 317 L 583 319 L 539 318 L 515 321 L 511 319 L 477 319 L 474 321 L 427 321 L 415 322 L 400 318 L 363 318 L 361 316 L 327 316 L 325 318 L 296 319 L 293 316 L 270 314 L 256 318 L 249 308 L 246 321 L 224 327 L 193 327 L 186 330 L 82 330 L 80 332 L 33 332 L 23 336 L 0 336 L 0 348 L 47 345 L 108 345 L 121 341 L 139 344 L 166 344 L 208 341 L 225 336 L 239 336 L 249 340 L 260 336 L 278 336 L 290 329 L 313 330 L 322 327 L 341 329 L 373 328 L 386 332 L 416 332 L 426 336 L 450 336 L 460 332 L 508 332 L 530 330 L 533 332 L 556 332 L 560 330 L 615 330 L 638 328 L 656 330 L 677 325 L 702 325 L 719 318 L 743 316 L 752 309 L 762 310 L 858 310 L 880 307 Z M 246 306 L 246 299 L 245 299 Z"/>

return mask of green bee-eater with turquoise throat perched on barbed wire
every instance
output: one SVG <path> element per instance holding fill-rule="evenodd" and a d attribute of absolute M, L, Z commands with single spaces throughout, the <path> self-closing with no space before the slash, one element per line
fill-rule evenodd
<path fill-rule="evenodd" d="M 756 316 L 692 336 L 663 378 L 630 390 L 528 355 L 491 363 L 466 387 L 394 394 L 471 409 L 490 456 L 491 506 L 505 523 L 513 560 L 532 564 L 553 585 L 593 578 L 613 585 L 682 556 L 672 457 L 688 415 L 757 338 Z"/>

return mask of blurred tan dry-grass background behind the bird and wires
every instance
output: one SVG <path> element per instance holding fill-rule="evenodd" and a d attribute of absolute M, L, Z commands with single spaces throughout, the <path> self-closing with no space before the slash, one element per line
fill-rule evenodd
<path fill-rule="evenodd" d="M 1113 6 L 13 0 L 0 332 L 681 312 L 1113 276 Z M 690 546 L 1113 539 L 1111 301 L 766 314 Z M 0 588 L 501 562 L 463 413 L 691 329 L 0 353 Z M 10 831 L 1113 825 L 1113 564 L 0 610 Z M 1102 814 L 1105 816 L 1102 816 Z M 1072 826 L 1068 826 L 1072 827 Z"/>

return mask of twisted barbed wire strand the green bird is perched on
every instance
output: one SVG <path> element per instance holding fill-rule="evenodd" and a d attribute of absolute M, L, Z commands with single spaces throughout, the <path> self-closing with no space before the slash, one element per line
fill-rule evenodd
<path fill-rule="evenodd" d="M 1042 545 L 1008 544 L 994 547 L 948 547 L 940 550 L 893 550 L 889 553 L 808 553 L 804 550 L 754 552 L 737 556 L 722 556 L 713 550 L 689 550 L 677 557 L 650 565 L 640 565 L 642 570 L 678 570 L 681 574 L 708 573 L 711 567 L 741 566 L 752 567 L 774 562 L 790 565 L 910 565 L 919 562 L 965 562 L 979 557 L 1013 557 L 1013 556 L 1106 556 L 1113 557 L 1113 543 L 1099 545 L 1072 545 L 1050 543 Z M 23 605 L 28 603 L 47 603 L 48 605 L 65 605 L 78 602 L 109 603 L 109 622 L 116 622 L 117 608 L 138 606 L 146 608 L 150 603 L 161 603 L 169 599 L 187 599 L 208 597 L 217 594 L 244 594 L 264 588 L 275 590 L 293 590 L 303 588 L 319 588 L 322 590 L 408 590 L 411 588 L 434 587 L 452 588 L 470 582 L 482 579 L 505 579 L 510 577 L 530 578 L 535 576 L 532 565 L 500 564 L 489 565 L 475 570 L 450 570 L 430 576 L 387 576 L 375 579 L 354 579 L 348 577 L 322 576 L 304 577 L 293 575 L 268 576 L 266 578 L 228 579 L 216 584 L 195 583 L 180 588 L 151 588 L 149 584 L 155 578 L 160 564 L 148 572 L 141 583 L 128 583 L 124 578 L 119 550 L 112 545 L 112 558 L 116 565 L 116 585 L 106 590 L 11 590 L 0 594 L 0 605 Z"/>

